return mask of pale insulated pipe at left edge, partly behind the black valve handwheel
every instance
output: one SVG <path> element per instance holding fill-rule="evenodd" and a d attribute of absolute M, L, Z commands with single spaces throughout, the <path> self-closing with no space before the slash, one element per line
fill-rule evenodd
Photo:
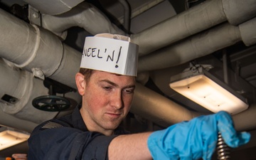
<path fill-rule="evenodd" d="M 57 112 L 41 111 L 32 106 L 33 98 L 48 95 L 48 89 L 43 86 L 42 80 L 33 78 L 33 74 L 26 70 L 7 65 L 1 58 L 0 73 L 0 108 L 3 112 L 34 123 L 55 117 Z M 6 96 L 11 96 L 10 100 L 4 98 Z M 6 125 L 5 123 L 0 122 Z"/>

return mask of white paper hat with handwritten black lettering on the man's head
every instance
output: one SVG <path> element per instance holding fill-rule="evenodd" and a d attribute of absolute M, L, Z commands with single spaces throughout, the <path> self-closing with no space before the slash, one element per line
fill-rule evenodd
<path fill-rule="evenodd" d="M 127 36 L 102 33 L 85 38 L 80 68 L 137 76 L 138 46 Z"/>

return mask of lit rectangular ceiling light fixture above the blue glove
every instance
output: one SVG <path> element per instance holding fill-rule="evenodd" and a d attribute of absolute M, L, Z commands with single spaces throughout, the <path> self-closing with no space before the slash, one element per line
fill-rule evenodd
<path fill-rule="evenodd" d="M 169 86 L 211 112 L 223 110 L 237 114 L 248 108 L 242 95 L 210 75 L 201 65 L 188 68 L 183 73 L 171 77 Z"/>

